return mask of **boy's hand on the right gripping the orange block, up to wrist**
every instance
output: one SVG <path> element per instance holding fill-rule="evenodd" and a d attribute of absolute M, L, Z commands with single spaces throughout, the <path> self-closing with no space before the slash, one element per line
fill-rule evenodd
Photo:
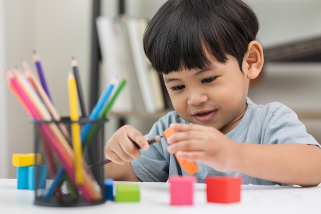
<path fill-rule="evenodd" d="M 176 131 L 167 141 L 168 152 L 187 161 L 202 162 L 218 171 L 234 171 L 241 157 L 239 144 L 219 130 L 203 125 L 171 124 Z"/>

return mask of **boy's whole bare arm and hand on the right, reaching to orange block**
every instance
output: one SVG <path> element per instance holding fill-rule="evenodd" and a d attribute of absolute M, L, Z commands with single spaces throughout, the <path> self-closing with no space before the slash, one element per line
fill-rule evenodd
<path fill-rule="evenodd" d="M 178 133 L 168 139 L 168 151 L 184 160 L 278 183 L 315 186 L 321 182 L 317 145 L 236 143 L 208 126 L 172 124 L 171 128 Z"/>

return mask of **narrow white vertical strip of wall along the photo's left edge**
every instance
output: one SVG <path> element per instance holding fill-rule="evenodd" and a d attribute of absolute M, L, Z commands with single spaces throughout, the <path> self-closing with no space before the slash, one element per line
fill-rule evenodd
<path fill-rule="evenodd" d="M 5 70 L 6 43 L 5 43 L 5 4 L 0 0 L 0 69 Z M 6 81 L 0 77 L 0 178 L 8 174 L 8 138 L 7 138 L 7 86 Z"/>

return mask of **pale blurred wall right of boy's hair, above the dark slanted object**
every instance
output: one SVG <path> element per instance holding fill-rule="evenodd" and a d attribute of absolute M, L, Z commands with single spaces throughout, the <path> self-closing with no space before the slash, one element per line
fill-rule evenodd
<path fill-rule="evenodd" d="M 258 16 L 258 40 L 277 45 L 321 35 L 319 0 L 246 0 Z"/>

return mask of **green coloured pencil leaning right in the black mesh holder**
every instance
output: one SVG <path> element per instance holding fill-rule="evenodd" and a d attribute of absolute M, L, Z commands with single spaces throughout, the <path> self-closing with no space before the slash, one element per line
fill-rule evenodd
<path fill-rule="evenodd" d="M 109 113 L 109 111 L 111 110 L 111 108 L 113 107 L 119 93 L 121 93 L 121 91 L 124 89 L 125 85 L 127 83 L 127 80 L 125 78 L 123 78 L 121 80 L 121 82 L 118 84 L 118 87 L 115 91 L 115 93 L 112 95 L 111 99 L 108 101 L 108 103 L 104 106 L 103 110 L 101 111 L 101 113 L 99 113 L 98 115 L 98 120 L 101 120 L 101 119 L 105 119 L 107 114 Z M 98 131 L 100 125 L 99 124 L 94 124 L 87 137 L 85 138 L 85 142 L 83 144 L 83 149 L 85 149 L 89 142 L 92 140 L 92 138 L 94 137 L 94 135 L 96 134 L 96 132 Z"/>

